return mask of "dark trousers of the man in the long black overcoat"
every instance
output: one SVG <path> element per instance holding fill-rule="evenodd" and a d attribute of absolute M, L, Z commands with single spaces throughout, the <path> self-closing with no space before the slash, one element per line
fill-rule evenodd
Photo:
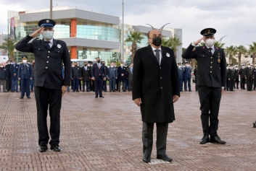
<path fill-rule="evenodd" d="M 165 154 L 168 123 L 156 123 L 157 125 L 157 155 Z M 143 123 L 142 143 L 143 154 L 151 154 L 153 147 L 154 123 Z"/>

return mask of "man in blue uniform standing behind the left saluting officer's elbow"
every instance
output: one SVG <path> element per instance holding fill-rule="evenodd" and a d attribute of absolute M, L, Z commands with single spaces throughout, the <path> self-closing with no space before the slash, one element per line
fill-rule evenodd
<path fill-rule="evenodd" d="M 28 57 L 22 56 L 22 63 L 20 63 L 19 70 L 18 70 L 18 79 L 20 80 L 21 85 L 21 95 L 20 99 L 23 99 L 26 96 L 30 99 L 30 79 L 32 79 L 32 67 L 27 62 Z"/>

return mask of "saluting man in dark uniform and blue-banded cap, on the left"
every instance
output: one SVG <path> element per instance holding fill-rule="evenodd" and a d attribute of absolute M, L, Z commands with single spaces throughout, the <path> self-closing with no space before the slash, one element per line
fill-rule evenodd
<path fill-rule="evenodd" d="M 34 53 L 35 56 L 35 97 L 38 120 L 39 152 L 48 149 L 49 133 L 51 136 L 51 150 L 60 152 L 60 108 L 62 97 L 70 86 L 70 53 L 62 40 L 55 40 L 55 22 L 52 19 L 42 19 L 38 22 L 40 29 L 22 38 L 16 45 L 17 51 Z M 28 43 L 39 33 L 43 39 L 35 39 Z M 62 77 L 62 62 L 65 65 L 65 78 Z M 47 128 L 47 110 L 51 118 L 50 130 Z"/>

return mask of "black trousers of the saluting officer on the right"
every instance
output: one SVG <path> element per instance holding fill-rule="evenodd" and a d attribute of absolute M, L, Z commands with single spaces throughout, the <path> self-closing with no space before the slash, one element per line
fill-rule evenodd
<path fill-rule="evenodd" d="M 201 104 L 201 121 L 204 136 L 216 136 L 219 123 L 218 113 L 220 109 L 221 87 L 198 86 L 197 89 Z"/>

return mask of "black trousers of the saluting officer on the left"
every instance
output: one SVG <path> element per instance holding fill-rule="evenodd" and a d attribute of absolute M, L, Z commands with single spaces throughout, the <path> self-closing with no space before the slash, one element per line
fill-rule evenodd
<path fill-rule="evenodd" d="M 60 129 L 60 108 L 62 105 L 61 89 L 46 89 L 44 87 L 35 87 L 37 125 L 38 125 L 38 144 L 48 144 L 49 134 L 47 128 L 47 110 L 49 107 L 50 115 L 50 136 L 49 144 L 59 144 Z"/>

